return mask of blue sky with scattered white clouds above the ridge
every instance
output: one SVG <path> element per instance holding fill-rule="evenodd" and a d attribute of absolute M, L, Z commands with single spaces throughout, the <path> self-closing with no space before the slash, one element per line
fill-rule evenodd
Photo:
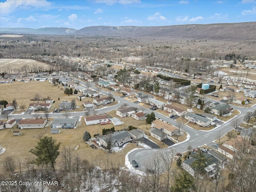
<path fill-rule="evenodd" d="M 255 0 L 0 0 L 0 27 L 165 26 L 256 21 Z"/>

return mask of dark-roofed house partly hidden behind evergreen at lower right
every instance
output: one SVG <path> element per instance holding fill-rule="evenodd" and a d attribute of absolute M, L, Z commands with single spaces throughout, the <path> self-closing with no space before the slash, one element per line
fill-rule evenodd
<path fill-rule="evenodd" d="M 204 168 L 204 170 L 206 171 L 209 177 L 214 177 L 216 174 L 216 167 L 218 166 L 219 160 L 212 154 L 203 154 L 209 160 L 209 162 L 206 163 L 206 167 Z M 191 157 L 189 159 L 182 161 L 182 168 L 192 176 L 195 176 L 196 173 L 196 169 L 192 166 L 192 163 L 196 161 L 194 155 L 195 153 L 192 153 L 190 154 Z"/>

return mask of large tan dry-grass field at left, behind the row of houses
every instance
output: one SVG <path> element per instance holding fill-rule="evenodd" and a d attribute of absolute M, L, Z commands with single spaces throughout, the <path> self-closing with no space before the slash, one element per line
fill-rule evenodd
<path fill-rule="evenodd" d="M 37 101 L 31 101 L 30 99 L 34 98 L 34 95 L 36 93 L 40 94 L 41 99 L 50 97 L 51 99 L 54 99 L 55 103 L 52 104 L 52 107 L 50 108 L 50 112 L 52 112 L 55 108 L 59 108 L 59 104 L 62 101 L 70 101 L 72 99 L 76 100 L 76 111 L 83 111 L 84 107 L 83 102 L 85 101 L 92 101 L 92 98 L 85 98 L 82 101 L 78 99 L 78 96 L 80 95 L 79 92 L 77 95 L 70 95 L 64 94 L 64 90 L 62 86 L 54 86 L 53 84 L 49 83 L 48 81 L 45 82 L 39 82 L 39 81 L 30 81 L 28 83 L 24 82 L 13 82 L 8 84 L 0 84 L 0 100 L 6 100 L 8 103 L 11 103 L 14 98 L 16 98 L 18 105 L 25 105 L 25 110 L 28 109 L 28 105 L 33 102 Z M 58 100 L 60 98 L 60 100 Z M 44 101 L 39 101 L 43 102 Z"/>

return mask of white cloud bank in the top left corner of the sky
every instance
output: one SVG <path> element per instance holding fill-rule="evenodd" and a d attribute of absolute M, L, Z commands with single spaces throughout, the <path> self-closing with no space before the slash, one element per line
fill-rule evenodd
<path fill-rule="evenodd" d="M 46 0 L 6 0 L 6 2 L 0 2 L 1 14 L 8 14 L 14 12 L 16 9 L 42 9 L 51 7 L 51 3 Z"/>

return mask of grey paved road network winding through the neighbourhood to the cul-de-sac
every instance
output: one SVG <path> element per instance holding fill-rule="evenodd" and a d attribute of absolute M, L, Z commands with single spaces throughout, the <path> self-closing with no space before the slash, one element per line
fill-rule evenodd
<path fill-rule="evenodd" d="M 79 82 L 80 82 L 80 84 L 85 85 L 84 82 L 82 82 L 82 81 L 79 81 Z M 91 86 L 90 88 L 96 90 L 96 88 L 94 86 Z M 113 91 L 106 92 L 104 90 L 100 90 L 100 92 L 108 95 L 109 93 L 112 93 Z M 119 104 L 117 104 L 115 106 L 110 106 L 110 107 L 99 109 L 98 114 L 108 112 L 111 110 L 115 110 L 116 108 L 119 108 L 123 103 L 128 103 L 129 106 L 133 106 L 133 107 L 141 107 L 138 104 L 136 104 L 134 102 L 130 102 L 128 100 L 125 100 L 124 98 L 121 98 L 119 96 L 113 95 L 113 97 L 119 101 Z M 205 97 L 205 98 L 207 98 L 207 97 Z M 211 102 L 217 102 L 216 100 L 214 100 L 212 98 L 207 98 L 207 100 L 210 100 Z M 241 112 L 241 114 L 239 116 L 235 117 L 235 118 L 241 118 L 241 119 L 244 118 L 244 115 L 246 114 L 246 112 L 256 110 L 256 106 L 254 106 L 252 108 L 242 108 L 242 107 L 238 107 L 238 106 L 232 106 L 232 107 Z M 175 120 L 172 120 L 171 118 L 168 118 L 168 117 L 166 117 L 158 112 L 152 111 L 148 108 L 144 108 L 144 109 L 145 109 L 144 111 L 147 112 L 148 114 L 151 112 L 154 112 L 156 118 L 160 118 L 161 120 L 163 120 L 165 122 L 168 122 L 174 126 L 177 126 L 177 122 Z M 84 112 L 70 112 L 70 116 L 79 118 L 80 116 L 84 116 Z M 53 113 L 53 114 L 50 114 L 49 117 L 50 118 L 64 117 L 64 114 Z M 17 119 L 33 118 L 33 116 L 28 113 L 25 113 L 23 115 L 13 115 L 13 118 L 17 118 Z M 222 126 L 215 128 L 214 130 L 211 130 L 210 132 L 194 130 L 194 129 L 191 129 L 188 126 L 184 125 L 182 130 L 184 130 L 185 132 L 188 133 L 188 135 L 190 136 L 190 139 L 186 142 L 177 144 L 176 146 L 172 146 L 171 148 L 174 149 L 176 152 L 185 152 L 187 150 L 188 145 L 191 145 L 193 148 L 196 148 L 198 146 L 202 146 L 204 144 L 211 143 L 212 141 L 216 140 L 220 134 L 224 135 L 232 129 L 233 129 L 233 127 L 230 125 L 230 122 L 227 122 L 227 123 L 223 124 Z M 129 160 L 131 162 L 133 159 L 135 159 L 139 165 L 142 165 L 142 166 L 138 167 L 138 170 L 144 171 L 145 170 L 145 167 L 143 166 L 144 162 L 146 160 L 150 159 L 150 157 L 152 157 L 152 155 L 155 152 L 157 152 L 156 149 L 135 150 L 129 154 Z"/>

